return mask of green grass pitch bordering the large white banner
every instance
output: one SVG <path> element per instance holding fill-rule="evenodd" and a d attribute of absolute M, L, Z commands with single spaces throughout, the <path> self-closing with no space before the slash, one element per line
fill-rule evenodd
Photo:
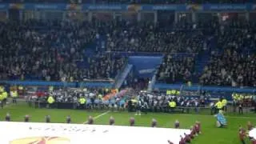
<path fill-rule="evenodd" d="M 110 116 L 115 119 L 115 125 L 126 126 L 129 124 L 130 117 L 135 118 L 135 126 L 150 126 L 152 118 L 157 119 L 158 127 L 173 128 L 174 121 L 178 119 L 181 128 L 190 129 L 196 121 L 200 121 L 202 125 L 202 134 L 194 138 L 192 143 L 196 144 L 239 144 L 238 126 L 246 128 L 248 121 L 256 123 L 256 114 L 226 114 L 228 126 L 226 128 L 216 128 L 215 118 L 209 114 L 164 114 L 164 113 L 148 113 L 142 115 L 134 115 L 134 113 L 111 112 L 108 110 L 60 110 L 60 109 L 35 109 L 21 102 L 17 105 L 7 105 L 0 109 L 0 119 L 3 121 L 6 113 L 11 115 L 11 121 L 22 122 L 24 115 L 30 115 L 31 122 L 45 122 L 47 114 L 51 117 L 51 122 L 64 123 L 66 116 L 70 115 L 72 123 L 84 123 L 89 116 L 94 117 L 94 124 L 109 124 Z M 127 138 L 129 136 L 127 135 Z M 146 138 L 142 134 L 142 138 Z M 250 143 L 247 140 L 246 143 Z"/>

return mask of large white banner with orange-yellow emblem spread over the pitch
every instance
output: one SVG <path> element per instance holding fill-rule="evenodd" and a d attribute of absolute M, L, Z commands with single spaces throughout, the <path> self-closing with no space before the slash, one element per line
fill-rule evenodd
<path fill-rule="evenodd" d="M 178 144 L 190 130 L 140 126 L 0 122 L 1 144 Z"/>

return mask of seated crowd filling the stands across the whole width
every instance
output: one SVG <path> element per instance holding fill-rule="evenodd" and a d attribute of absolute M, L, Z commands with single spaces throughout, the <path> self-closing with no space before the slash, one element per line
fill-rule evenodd
<path fill-rule="evenodd" d="M 256 86 L 254 22 L 183 24 L 177 29 L 128 21 L 2 22 L 0 78 L 69 82 L 114 78 L 126 64 L 126 57 L 114 51 L 125 51 L 169 53 L 159 67 L 158 80 L 188 82 L 198 76 L 194 69 L 198 54 L 208 51 L 211 59 L 199 78 L 201 84 Z M 86 49 L 101 38 L 106 38 L 102 46 L 112 52 L 105 54 L 96 46 L 96 54 L 87 55 Z M 192 56 L 176 58 L 171 53 Z"/>

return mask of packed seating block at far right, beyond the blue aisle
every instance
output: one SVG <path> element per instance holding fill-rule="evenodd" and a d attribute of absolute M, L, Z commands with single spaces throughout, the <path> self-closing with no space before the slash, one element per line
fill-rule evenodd
<path fill-rule="evenodd" d="M 254 25 L 231 22 L 215 32 L 217 49 L 200 79 L 203 85 L 256 86 Z"/>

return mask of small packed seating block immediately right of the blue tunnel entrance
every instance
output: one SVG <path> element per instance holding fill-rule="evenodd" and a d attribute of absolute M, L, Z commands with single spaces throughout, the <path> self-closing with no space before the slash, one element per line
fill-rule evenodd
<path fill-rule="evenodd" d="M 159 82 L 189 82 L 194 74 L 194 57 L 175 58 L 171 54 L 163 58 L 158 69 Z"/>

